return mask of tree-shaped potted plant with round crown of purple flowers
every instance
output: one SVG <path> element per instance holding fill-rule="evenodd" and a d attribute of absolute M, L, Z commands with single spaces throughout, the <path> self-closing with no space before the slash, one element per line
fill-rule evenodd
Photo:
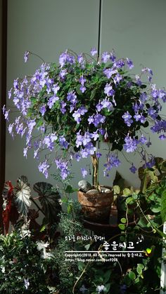
<path fill-rule="evenodd" d="M 30 54 L 25 53 L 25 61 Z M 39 163 L 39 171 L 47 178 L 51 163 L 56 163 L 63 180 L 70 173 L 72 159 L 91 157 L 91 187 L 96 191 L 89 192 L 88 197 L 94 206 L 102 199 L 106 204 L 103 211 L 108 206 L 108 213 L 113 195 L 101 194 L 98 182 L 99 158 L 104 156 L 100 142 L 108 147 L 103 174 L 109 176 L 110 170 L 120 165 L 118 151 L 136 152 L 140 148 L 141 159 L 151 165 L 152 158 L 144 151 L 151 142 L 143 133 L 149 123 L 153 133 L 160 133 L 160 140 L 166 138 L 166 121 L 160 116 L 165 91 L 152 83 L 151 69 L 144 67 L 140 76 L 134 76 L 129 73 L 133 66 L 132 60 L 117 59 L 114 52 L 97 56 L 95 48 L 91 55 L 67 50 L 60 54 L 58 65 L 44 62 L 32 76 L 15 79 L 9 91 L 20 114 L 8 131 L 13 137 L 15 133 L 26 136 L 24 156 L 34 148 L 34 158 L 39 159 L 39 154 L 49 149 Z M 3 111 L 8 119 L 9 110 L 4 106 Z M 34 136 L 34 131 L 39 134 Z M 136 171 L 133 163 L 130 170 Z M 86 175 L 82 166 L 83 178 Z M 85 196 L 79 194 L 79 201 Z"/>

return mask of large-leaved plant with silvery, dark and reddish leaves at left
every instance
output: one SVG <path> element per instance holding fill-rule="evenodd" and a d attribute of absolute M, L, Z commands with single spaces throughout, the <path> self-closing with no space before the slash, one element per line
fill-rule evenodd
<path fill-rule="evenodd" d="M 39 212 L 44 215 L 43 225 L 50 227 L 50 225 L 58 224 L 58 213 L 61 211 L 59 192 L 47 182 L 37 182 L 33 189 L 39 195 L 38 197 L 32 197 L 30 184 L 24 175 L 18 178 L 15 186 L 10 181 L 5 183 L 2 196 L 4 199 L 3 220 L 6 234 L 10 222 L 12 225 L 24 223 L 33 231 L 39 231 L 40 226 L 35 221 Z M 37 200 L 39 200 L 40 206 Z M 32 203 L 37 207 L 37 211 L 30 209 Z M 22 221 L 18 223 L 18 219 L 22 219 Z"/>

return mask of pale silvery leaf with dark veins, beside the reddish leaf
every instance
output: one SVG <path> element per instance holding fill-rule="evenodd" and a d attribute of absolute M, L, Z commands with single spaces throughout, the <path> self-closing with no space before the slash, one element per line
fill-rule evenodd
<path fill-rule="evenodd" d="M 25 177 L 25 175 L 21 175 L 20 178 L 18 178 L 15 189 L 15 205 L 17 206 L 20 215 L 27 217 L 27 213 L 31 206 L 31 190 L 30 184 L 28 184 L 27 177 Z"/>

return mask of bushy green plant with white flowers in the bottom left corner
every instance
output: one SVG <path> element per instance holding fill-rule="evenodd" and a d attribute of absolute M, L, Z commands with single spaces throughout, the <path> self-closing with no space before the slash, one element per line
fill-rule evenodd
<path fill-rule="evenodd" d="M 31 236 L 0 235 L 0 293 L 51 293 L 48 273 L 52 267 L 53 261 L 41 257 Z"/>

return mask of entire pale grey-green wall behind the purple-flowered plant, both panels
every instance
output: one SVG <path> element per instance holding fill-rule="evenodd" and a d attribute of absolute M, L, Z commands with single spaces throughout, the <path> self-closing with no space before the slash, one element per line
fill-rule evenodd
<path fill-rule="evenodd" d="M 56 61 L 65 48 L 76 52 L 89 52 L 98 43 L 98 0 L 8 0 L 8 89 L 13 79 L 34 72 L 40 61 L 33 56 L 27 64 L 23 54 L 29 50 L 39 54 L 46 61 Z M 118 57 L 129 57 L 136 68 L 140 65 L 151 67 L 155 74 L 154 82 L 165 86 L 166 74 L 166 1 L 165 0 L 103 0 L 101 24 L 101 51 L 115 49 Z M 164 111 L 165 112 L 164 108 Z M 166 157 L 165 141 L 153 136 L 151 152 Z M 122 159 L 118 171 L 135 187 L 139 186 L 137 175 L 129 172 L 129 164 Z M 139 156 L 131 155 L 131 161 L 140 166 Z M 89 161 L 73 163 L 72 171 L 76 187 L 81 173 L 80 166 Z M 103 165 L 103 163 L 101 163 Z M 52 169 L 53 171 L 53 169 Z M 6 138 L 6 180 L 15 180 L 25 174 L 33 183 L 45 180 L 37 168 L 37 161 L 30 154 L 23 157 L 23 140 Z M 101 183 L 111 185 L 110 180 Z M 88 178 L 90 181 L 90 176 Z M 49 181 L 53 182 L 50 177 Z"/>

